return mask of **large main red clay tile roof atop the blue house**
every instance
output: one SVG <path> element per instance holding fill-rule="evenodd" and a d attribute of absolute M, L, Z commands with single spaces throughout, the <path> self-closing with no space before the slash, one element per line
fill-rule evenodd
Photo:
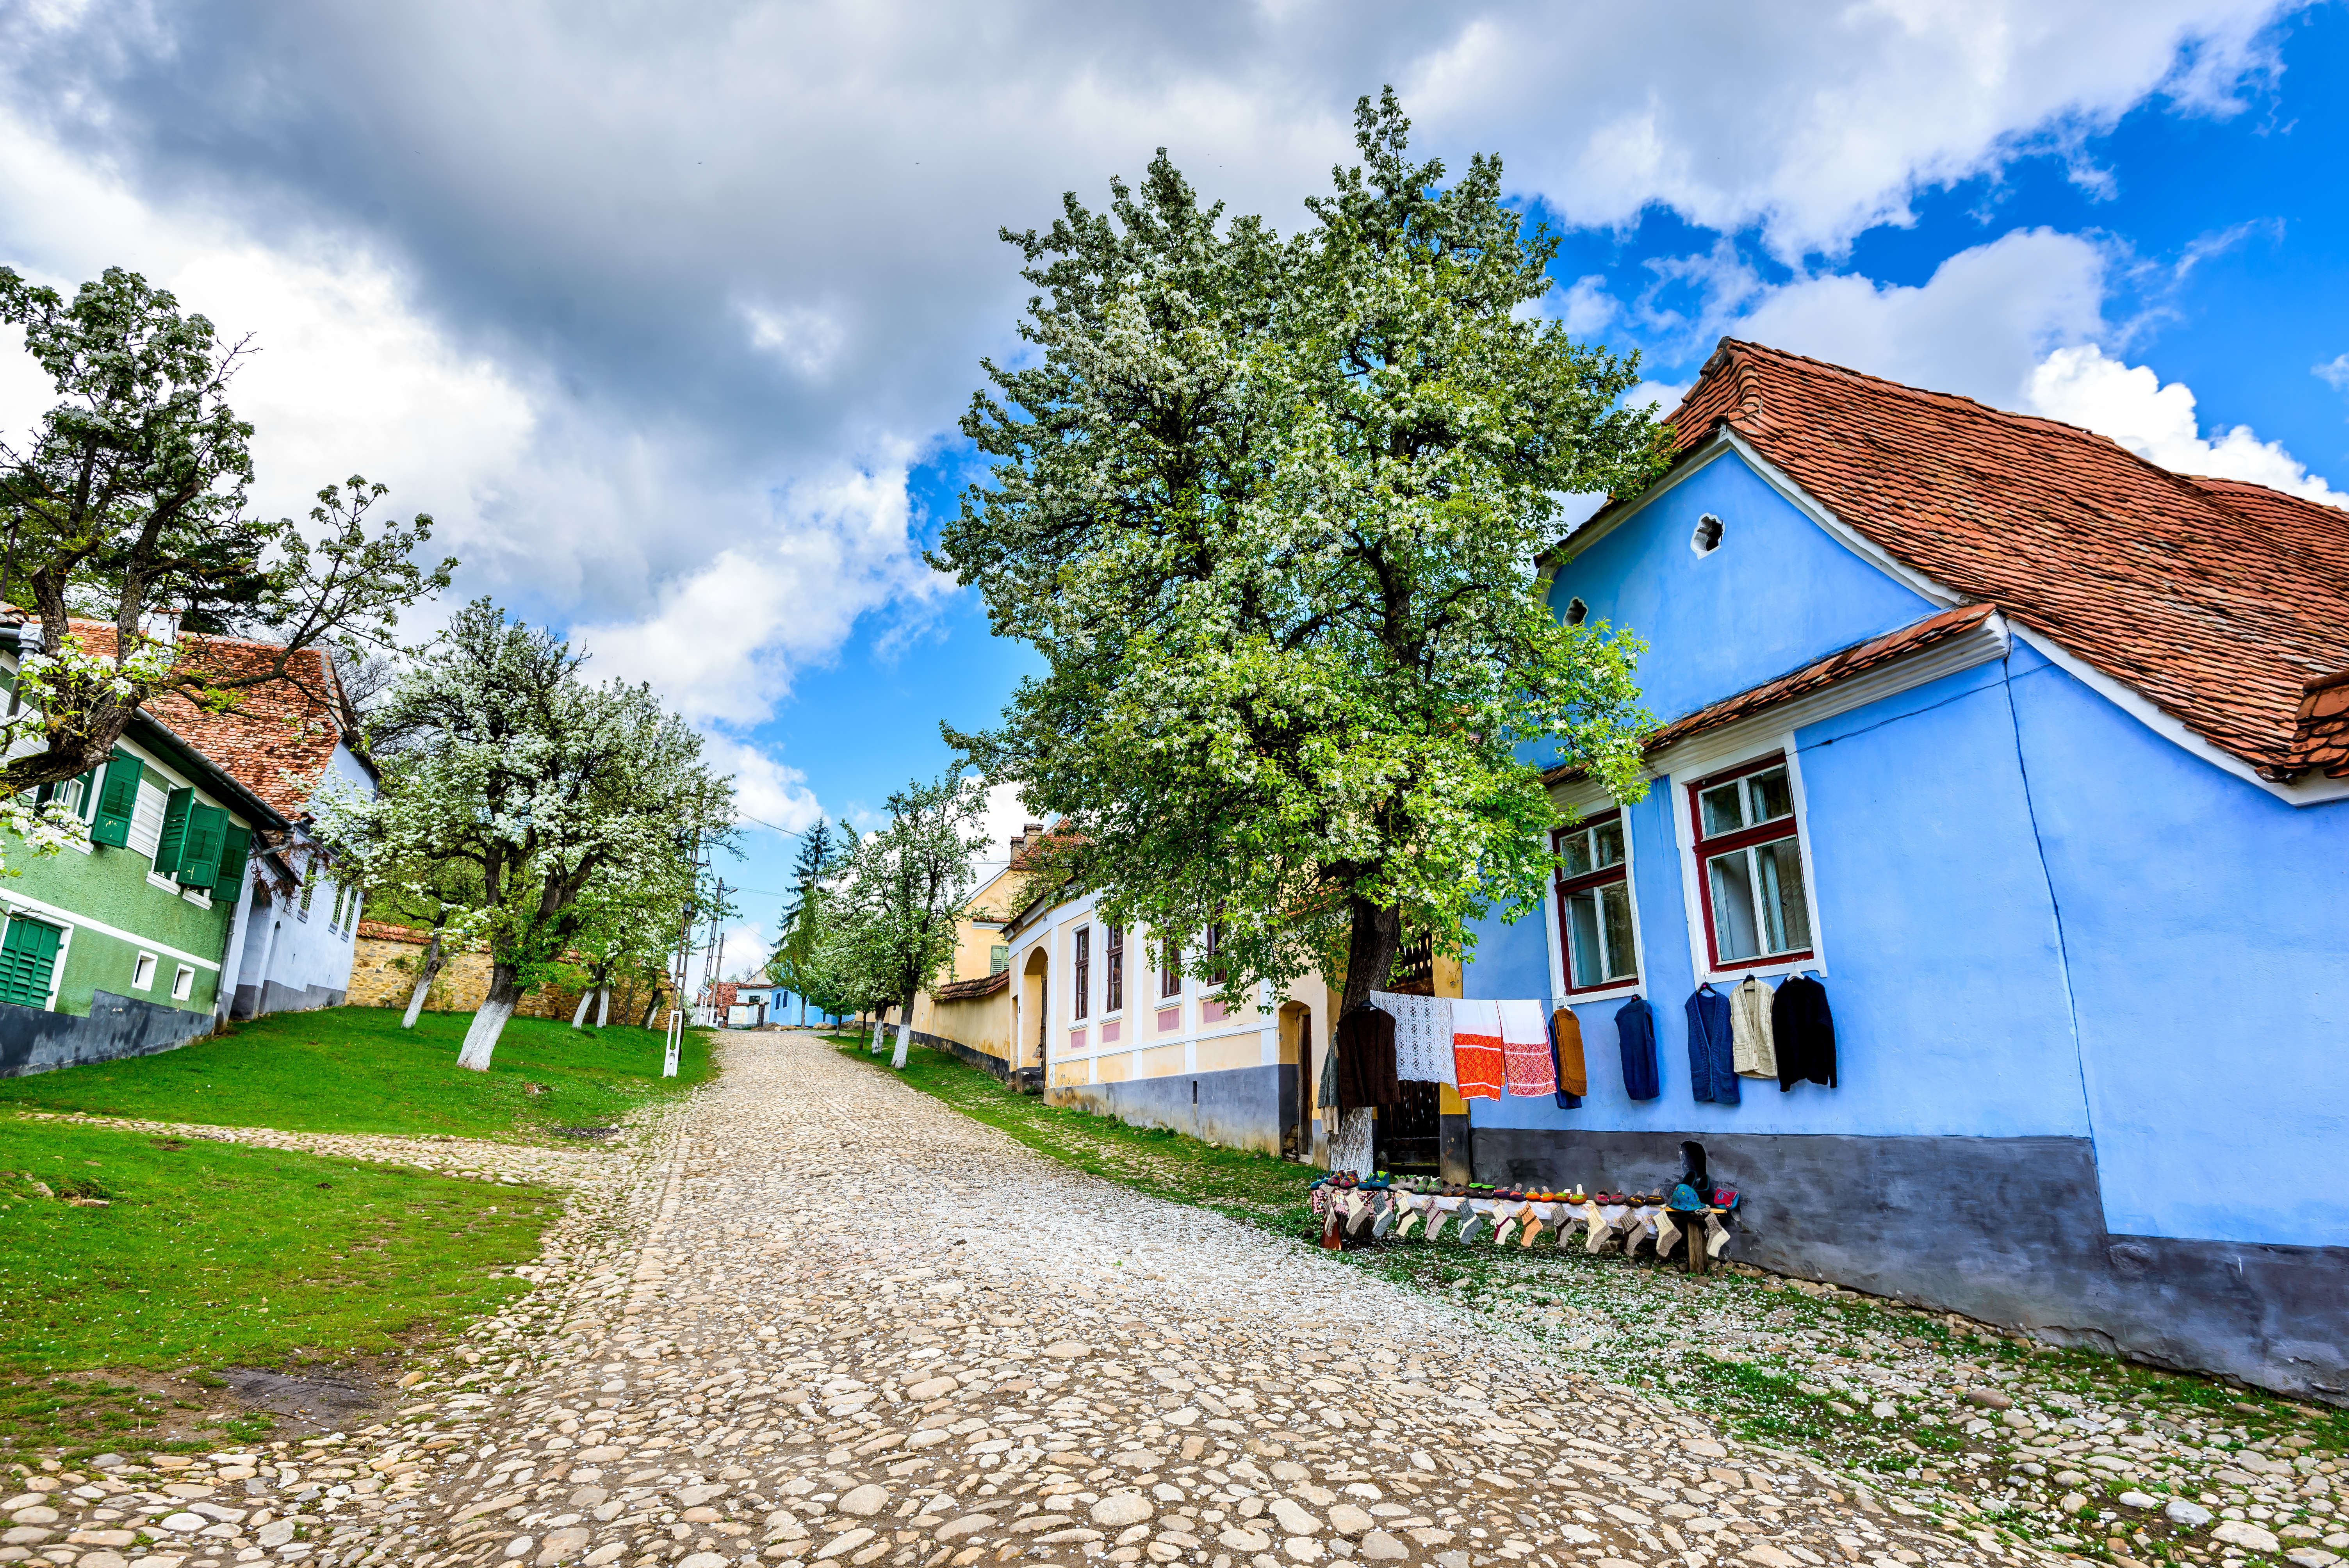
<path fill-rule="evenodd" d="M 2100 434 L 1722 338 L 1672 413 L 1736 430 L 1896 561 L 1997 603 L 2283 779 L 2349 669 L 2349 514 L 2154 467 Z"/>

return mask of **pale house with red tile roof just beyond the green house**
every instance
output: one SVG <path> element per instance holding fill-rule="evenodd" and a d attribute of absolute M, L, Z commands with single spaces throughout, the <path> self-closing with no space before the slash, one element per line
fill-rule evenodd
<path fill-rule="evenodd" d="M 89 653 L 113 653 L 110 624 L 78 620 L 73 629 Z M 188 660 L 221 674 L 261 671 L 277 657 L 272 643 L 226 636 L 186 634 L 181 646 Z M 296 653 L 289 671 L 289 681 L 240 690 L 228 714 L 207 714 L 176 695 L 148 704 L 157 723 L 214 758 L 282 822 L 263 833 L 228 939 L 235 974 L 221 995 L 228 1019 L 341 1007 L 350 995 L 362 890 L 336 873 L 334 857 L 310 836 L 310 819 L 329 789 L 373 796 L 376 775 L 350 746 L 324 650 Z"/>

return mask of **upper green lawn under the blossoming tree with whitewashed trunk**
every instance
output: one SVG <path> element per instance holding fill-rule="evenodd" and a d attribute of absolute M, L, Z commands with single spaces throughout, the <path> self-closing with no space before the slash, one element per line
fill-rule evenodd
<path fill-rule="evenodd" d="M 554 1127 L 611 1127 L 712 1070 L 709 1038 L 698 1030 L 686 1030 L 677 1077 L 662 1080 L 655 1028 L 576 1030 L 559 1019 L 514 1019 L 489 1073 L 465 1073 L 456 1052 L 470 1021 L 428 1012 L 404 1030 L 392 1007 L 270 1014 L 157 1056 L 0 1080 L 0 1113 L 19 1106 L 209 1127 L 529 1138 Z"/>

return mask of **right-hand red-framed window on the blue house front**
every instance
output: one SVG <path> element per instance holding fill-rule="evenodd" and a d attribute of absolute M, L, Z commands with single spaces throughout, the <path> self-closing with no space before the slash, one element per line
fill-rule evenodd
<path fill-rule="evenodd" d="M 1811 958 L 1811 899 L 1785 753 L 1689 784 L 1689 822 L 1712 967 Z"/>

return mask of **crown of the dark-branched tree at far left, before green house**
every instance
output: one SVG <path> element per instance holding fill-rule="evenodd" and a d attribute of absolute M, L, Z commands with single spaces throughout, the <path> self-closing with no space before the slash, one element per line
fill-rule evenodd
<path fill-rule="evenodd" d="M 317 493 L 308 528 L 247 514 L 254 427 L 228 406 L 244 345 L 136 272 L 108 268 L 73 300 L 0 268 L 0 322 L 59 404 L 0 446 L 0 514 L 12 538 L 9 596 L 40 613 L 40 749 L 0 772 L 0 793 L 70 779 L 101 763 L 129 716 L 162 692 L 233 707 L 265 681 L 310 678 L 294 653 L 390 646 L 399 610 L 449 584 L 456 561 L 416 552 L 432 519 L 371 526 L 381 484 L 352 477 Z M 26 592 L 28 589 L 28 592 Z M 143 636 L 150 610 L 188 631 L 254 634 L 275 660 L 223 669 Z M 70 615 L 115 624 L 106 657 L 85 655 Z M 319 690 L 319 697 L 327 692 Z"/>

